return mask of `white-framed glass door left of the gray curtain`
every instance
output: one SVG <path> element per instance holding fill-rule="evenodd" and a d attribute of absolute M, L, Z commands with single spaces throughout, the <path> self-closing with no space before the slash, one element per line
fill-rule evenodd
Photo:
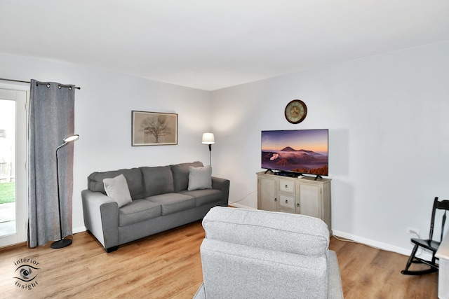
<path fill-rule="evenodd" d="M 0 247 L 27 240 L 29 87 L 0 83 Z"/>

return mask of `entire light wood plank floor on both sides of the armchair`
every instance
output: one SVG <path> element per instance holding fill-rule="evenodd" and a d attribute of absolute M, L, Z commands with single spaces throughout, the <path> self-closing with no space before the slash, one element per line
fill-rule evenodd
<path fill-rule="evenodd" d="M 201 222 L 195 222 L 112 253 L 105 253 L 87 232 L 74 235 L 65 249 L 50 244 L 1 249 L 0 298 L 192 298 L 203 280 L 203 237 Z M 337 252 L 344 298 L 437 298 L 437 274 L 401 274 L 406 256 L 335 238 L 330 249 Z M 30 290 L 14 278 L 25 259 L 39 263 L 33 281 L 20 281 Z"/>

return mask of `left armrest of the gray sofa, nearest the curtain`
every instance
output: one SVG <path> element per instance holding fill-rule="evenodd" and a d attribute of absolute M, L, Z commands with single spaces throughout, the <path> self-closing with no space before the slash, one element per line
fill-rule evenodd
<path fill-rule="evenodd" d="M 91 190 L 81 191 L 84 225 L 105 249 L 119 246 L 119 206 L 110 197 Z"/>

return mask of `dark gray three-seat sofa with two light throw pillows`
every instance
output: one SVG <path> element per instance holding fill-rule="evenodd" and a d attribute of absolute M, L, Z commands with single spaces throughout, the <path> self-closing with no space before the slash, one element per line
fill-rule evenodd
<path fill-rule="evenodd" d="M 107 252 L 227 207 L 229 180 L 201 162 L 93 172 L 81 192 L 84 225 Z M 123 178 L 124 177 L 124 178 Z"/>

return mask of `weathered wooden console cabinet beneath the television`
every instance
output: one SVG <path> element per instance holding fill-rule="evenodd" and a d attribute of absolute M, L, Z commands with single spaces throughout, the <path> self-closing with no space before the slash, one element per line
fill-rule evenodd
<path fill-rule="evenodd" d="M 257 209 L 304 214 L 323 220 L 332 233 L 330 179 L 257 172 Z"/>

